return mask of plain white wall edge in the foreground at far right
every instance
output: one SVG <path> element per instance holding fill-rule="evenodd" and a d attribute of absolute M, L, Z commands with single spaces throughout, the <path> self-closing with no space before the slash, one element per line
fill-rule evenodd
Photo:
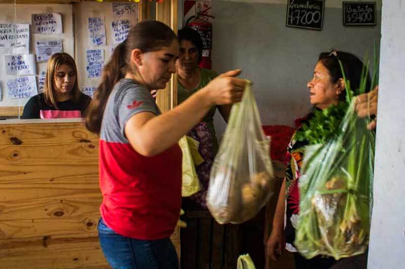
<path fill-rule="evenodd" d="M 369 269 L 405 268 L 405 0 L 384 0 Z"/>

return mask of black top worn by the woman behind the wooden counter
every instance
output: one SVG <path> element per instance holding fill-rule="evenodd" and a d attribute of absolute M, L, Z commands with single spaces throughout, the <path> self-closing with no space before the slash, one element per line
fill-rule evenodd
<path fill-rule="evenodd" d="M 24 106 L 24 112 L 21 119 L 41 119 L 41 111 L 77 111 L 83 117 L 83 113 L 91 101 L 91 97 L 81 93 L 79 101 L 77 103 L 73 102 L 72 99 L 66 101 L 57 102 L 58 109 L 50 106 L 45 102 L 44 93 L 39 93 L 32 96 Z M 63 118 L 63 117 L 52 117 L 52 118 Z"/>

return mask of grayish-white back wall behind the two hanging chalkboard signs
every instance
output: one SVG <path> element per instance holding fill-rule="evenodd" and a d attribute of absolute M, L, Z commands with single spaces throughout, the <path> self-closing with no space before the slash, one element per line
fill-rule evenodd
<path fill-rule="evenodd" d="M 378 10 L 381 0 L 376 1 Z M 244 70 L 254 90 L 264 125 L 293 126 L 310 109 L 307 81 L 318 55 L 332 48 L 362 58 L 380 39 L 377 26 L 343 26 L 342 1 L 327 0 L 322 31 L 286 27 L 287 0 L 213 1 L 213 69 Z M 225 123 L 215 118 L 221 136 Z"/>

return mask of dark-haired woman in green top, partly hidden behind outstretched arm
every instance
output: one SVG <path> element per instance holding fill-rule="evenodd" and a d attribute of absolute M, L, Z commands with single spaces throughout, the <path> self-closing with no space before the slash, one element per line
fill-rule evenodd
<path fill-rule="evenodd" d="M 179 59 L 176 61 L 178 74 L 177 102 L 180 104 L 196 91 L 204 88 L 218 74 L 215 71 L 198 67 L 204 46 L 197 31 L 185 27 L 179 30 L 177 39 L 180 44 Z M 211 166 L 219 147 L 214 129 L 214 115 L 218 108 L 223 119 L 228 121 L 231 107 L 231 104 L 212 106 L 210 111 L 201 119 L 201 122 L 187 134 L 199 142 L 199 152 L 204 158 L 204 163 L 196 167 L 201 190 L 190 197 L 193 204 L 195 203 L 204 209 L 207 208 L 206 195 Z"/>

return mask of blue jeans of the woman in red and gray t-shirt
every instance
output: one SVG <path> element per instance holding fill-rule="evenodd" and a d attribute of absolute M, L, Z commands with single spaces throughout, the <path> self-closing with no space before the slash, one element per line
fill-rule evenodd
<path fill-rule="evenodd" d="M 114 269 L 179 269 L 176 249 L 170 238 L 138 240 L 116 234 L 98 223 L 101 249 Z"/>

